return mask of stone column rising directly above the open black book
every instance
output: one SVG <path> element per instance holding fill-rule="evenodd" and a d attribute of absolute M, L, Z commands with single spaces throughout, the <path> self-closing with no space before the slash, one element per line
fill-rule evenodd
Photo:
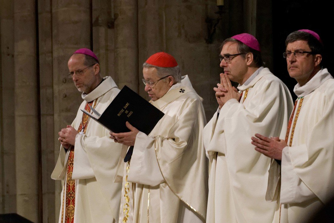
<path fill-rule="evenodd" d="M 115 76 L 120 88 L 138 92 L 137 0 L 115 0 Z"/>

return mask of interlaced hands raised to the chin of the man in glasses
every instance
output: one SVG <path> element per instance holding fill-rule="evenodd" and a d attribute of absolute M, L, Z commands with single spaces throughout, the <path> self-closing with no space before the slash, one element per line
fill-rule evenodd
<path fill-rule="evenodd" d="M 229 99 L 235 98 L 236 100 L 240 99 L 240 94 L 238 90 L 232 86 L 231 81 L 229 80 L 227 74 L 220 74 L 220 83 L 217 83 L 217 87 L 214 87 L 213 90 L 216 92 L 216 99 L 219 104 L 219 109 L 228 101 Z"/>

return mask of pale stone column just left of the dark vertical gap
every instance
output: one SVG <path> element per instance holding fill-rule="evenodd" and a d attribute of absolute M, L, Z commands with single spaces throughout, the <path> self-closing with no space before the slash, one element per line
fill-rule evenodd
<path fill-rule="evenodd" d="M 17 213 L 38 219 L 38 99 L 35 1 L 14 2 Z"/>

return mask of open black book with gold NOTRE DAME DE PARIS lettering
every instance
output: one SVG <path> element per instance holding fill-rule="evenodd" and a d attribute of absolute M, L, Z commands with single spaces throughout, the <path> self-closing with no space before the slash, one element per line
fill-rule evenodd
<path fill-rule="evenodd" d="M 165 115 L 126 85 L 101 115 L 92 107 L 92 114 L 87 110 L 81 111 L 114 133 L 130 132 L 125 125 L 128 121 L 146 135 Z"/>

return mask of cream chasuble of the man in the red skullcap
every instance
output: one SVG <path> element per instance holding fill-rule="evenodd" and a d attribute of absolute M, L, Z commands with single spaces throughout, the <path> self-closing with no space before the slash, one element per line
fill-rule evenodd
<path fill-rule="evenodd" d="M 165 115 L 148 136 L 137 134 L 127 178 L 135 184 L 133 221 L 127 222 L 205 222 L 208 168 L 201 100 L 183 76 L 152 102 Z"/>

